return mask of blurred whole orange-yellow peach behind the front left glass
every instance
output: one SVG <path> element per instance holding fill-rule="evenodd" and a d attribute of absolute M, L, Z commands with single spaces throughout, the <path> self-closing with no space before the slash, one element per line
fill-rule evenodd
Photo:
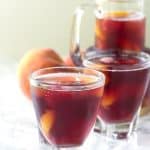
<path fill-rule="evenodd" d="M 32 72 L 42 68 L 63 65 L 63 59 L 53 49 L 31 49 L 27 52 L 17 68 L 19 86 L 24 95 L 31 99 L 29 76 Z"/>

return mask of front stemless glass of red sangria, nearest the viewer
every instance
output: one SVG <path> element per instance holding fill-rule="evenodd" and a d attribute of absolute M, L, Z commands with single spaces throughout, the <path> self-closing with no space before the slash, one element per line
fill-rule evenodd
<path fill-rule="evenodd" d="M 103 95 L 105 76 L 82 67 L 52 67 L 30 77 L 41 133 L 54 148 L 82 145 L 91 131 Z"/>

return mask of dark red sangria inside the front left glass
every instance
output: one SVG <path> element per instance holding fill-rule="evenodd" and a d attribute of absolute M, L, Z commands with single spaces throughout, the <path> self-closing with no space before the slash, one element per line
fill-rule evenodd
<path fill-rule="evenodd" d="M 81 88 L 78 84 L 86 85 L 94 78 L 86 75 L 78 77 L 79 83 L 76 74 L 49 78 L 50 82 L 74 85 L 71 90 L 59 84 L 45 89 L 32 86 L 40 129 L 46 139 L 57 146 L 81 145 L 96 120 L 103 87 Z"/>

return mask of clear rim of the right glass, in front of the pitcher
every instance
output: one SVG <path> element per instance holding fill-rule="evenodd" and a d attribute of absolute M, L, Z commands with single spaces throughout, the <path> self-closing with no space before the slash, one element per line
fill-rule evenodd
<path fill-rule="evenodd" d="M 115 52 L 115 51 L 114 51 Z M 115 65 L 115 64 L 98 64 L 93 62 L 93 59 L 100 58 L 100 57 L 111 57 L 116 56 L 115 53 L 112 52 L 98 52 L 95 56 L 85 58 L 83 61 L 83 65 L 88 68 L 100 70 L 100 71 L 117 71 L 117 72 L 129 72 L 129 71 L 138 71 L 150 68 L 150 55 L 146 52 L 131 52 L 131 51 L 124 51 L 119 53 L 120 56 L 133 56 L 143 58 L 144 60 L 141 63 L 134 64 L 134 65 Z"/>

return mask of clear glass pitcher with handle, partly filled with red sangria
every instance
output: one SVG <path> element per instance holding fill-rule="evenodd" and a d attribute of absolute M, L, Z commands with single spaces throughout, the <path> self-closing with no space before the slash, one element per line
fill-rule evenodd
<path fill-rule="evenodd" d="M 85 55 L 93 51 L 143 50 L 143 7 L 144 0 L 95 0 L 81 4 L 75 11 L 72 29 L 70 55 L 74 64 L 81 65 Z M 87 24 L 92 26 L 87 28 Z"/>

